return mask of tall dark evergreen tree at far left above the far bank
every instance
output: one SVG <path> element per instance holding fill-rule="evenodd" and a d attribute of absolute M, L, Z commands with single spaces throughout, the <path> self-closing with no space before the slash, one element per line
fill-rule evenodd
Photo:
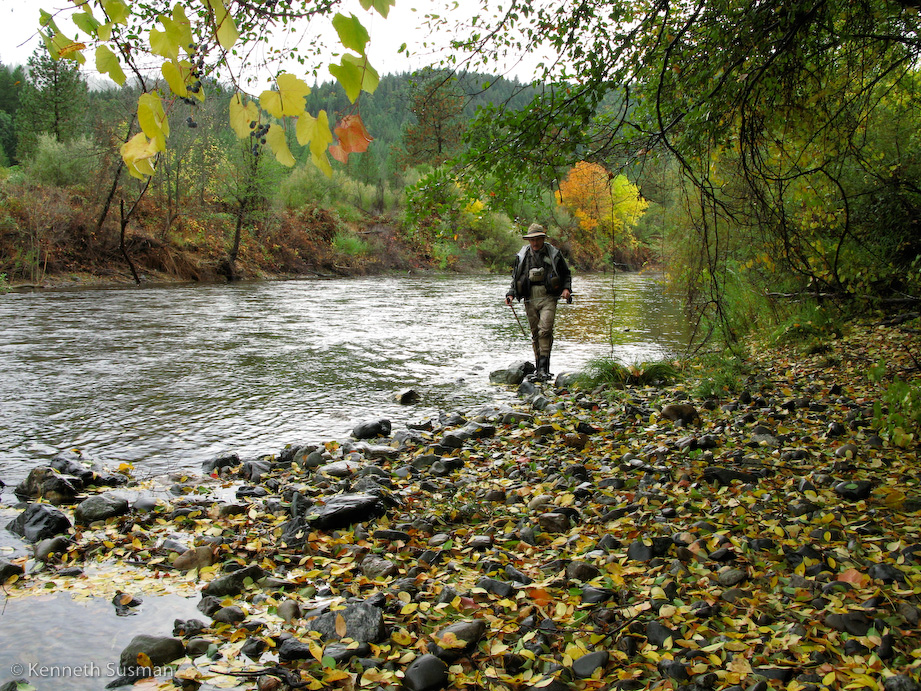
<path fill-rule="evenodd" d="M 44 48 L 38 48 L 26 68 L 26 84 L 15 116 L 19 160 L 35 152 L 40 134 L 66 143 L 84 133 L 87 121 L 89 90 L 75 64 L 55 60 Z"/>

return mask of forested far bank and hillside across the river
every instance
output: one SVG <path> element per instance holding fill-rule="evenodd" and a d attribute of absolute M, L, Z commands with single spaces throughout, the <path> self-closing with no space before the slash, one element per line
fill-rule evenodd
<path fill-rule="evenodd" d="M 450 164 L 481 109 L 523 107 L 533 86 L 435 69 L 384 76 L 360 101 L 373 141 L 346 164 L 334 161 L 332 178 L 290 130 L 290 168 L 265 155 L 264 135 L 241 144 L 225 126 L 233 90 L 203 88 L 204 103 L 173 104 L 169 147 L 156 173 L 137 181 L 118 155 L 137 129 L 136 86 L 90 89 L 73 66 L 40 53 L 0 66 L 6 280 L 504 270 L 522 227 L 567 217 L 552 189 L 500 199 L 467 189 Z M 336 82 L 315 84 L 305 103 L 331 121 L 356 110 Z M 599 235 L 572 247 L 577 263 L 601 266 L 603 243 Z"/>

